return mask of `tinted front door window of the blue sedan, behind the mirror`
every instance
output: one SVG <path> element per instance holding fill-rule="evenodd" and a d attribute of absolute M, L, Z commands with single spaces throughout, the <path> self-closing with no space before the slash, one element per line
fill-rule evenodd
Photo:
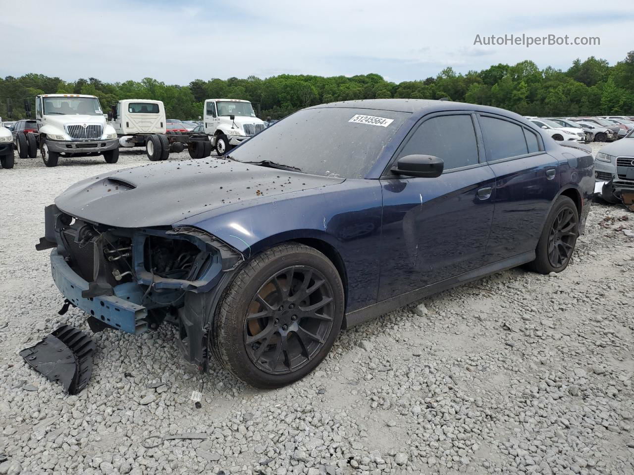
<path fill-rule="evenodd" d="M 399 156 L 434 155 L 444 169 L 478 163 L 475 129 L 470 115 L 444 115 L 425 120 L 410 137 Z"/>

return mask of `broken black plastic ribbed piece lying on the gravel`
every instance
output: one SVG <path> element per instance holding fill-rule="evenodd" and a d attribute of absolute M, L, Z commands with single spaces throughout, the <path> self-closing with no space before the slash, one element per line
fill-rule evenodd
<path fill-rule="evenodd" d="M 62 325 L 20 356 L 49 381 L 58 381 L 68 394 L 86 388 L 93 372 L 94 342 L 81 330 Z"/>

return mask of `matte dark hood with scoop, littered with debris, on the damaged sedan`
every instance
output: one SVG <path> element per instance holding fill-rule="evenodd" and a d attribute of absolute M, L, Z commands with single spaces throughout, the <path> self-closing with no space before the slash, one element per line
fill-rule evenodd
<path fill-rule="evenodd" d="M 127 168 L 77 182 L 55 200 L 61 211 L 113 227 L 172 225 L 233 203 L 343 182 L 223 158 Z"/>

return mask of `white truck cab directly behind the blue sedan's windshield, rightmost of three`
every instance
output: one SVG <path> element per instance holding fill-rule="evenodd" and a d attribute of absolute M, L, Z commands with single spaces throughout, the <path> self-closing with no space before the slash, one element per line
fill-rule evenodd
<path fill-rule="evenodd" d="M 205 133 L 212 137 L 218 155 L 264 130 L 253 106 L 242 99 L 206 99 Z"/>

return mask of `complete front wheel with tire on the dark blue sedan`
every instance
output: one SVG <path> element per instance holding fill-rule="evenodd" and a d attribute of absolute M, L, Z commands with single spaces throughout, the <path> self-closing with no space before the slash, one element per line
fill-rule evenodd
<path fill-rule="evenodd" d="M 266 250 L 238 271 L 223 295 L 210 346 L 217 360 L 256 388 L 280 388 L 326 357 L 344 316 L 339 272 L 309 246 Z"/>

